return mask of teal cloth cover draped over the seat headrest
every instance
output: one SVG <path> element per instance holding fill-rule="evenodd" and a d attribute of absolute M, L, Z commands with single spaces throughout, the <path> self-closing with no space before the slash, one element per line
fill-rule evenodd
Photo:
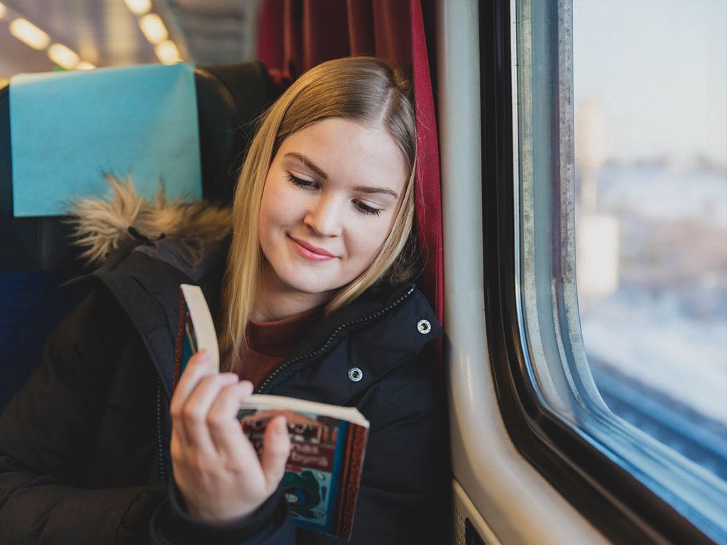
<path fill-rule="evenodd" d="M 194 69 L 188 64 L 21 74 L 10 81 L 15 217 L 63 215 L 103 197 L 103 173 L 145 198 L 201 198 Z"/>

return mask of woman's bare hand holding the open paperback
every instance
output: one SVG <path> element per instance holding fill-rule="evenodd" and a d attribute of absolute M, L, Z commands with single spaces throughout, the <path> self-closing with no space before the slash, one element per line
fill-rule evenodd
<path fill-rule="evenodd" d="M 278 487 L 290 452 L 286 421 L 268 424 L 257 457 L 237 413 L 252 384 L 233 373 L 214 374 L 206 352 L 190 358 L 172 395 L 174 481 L 189 514 L 228 522 L 252 513 Z"/>

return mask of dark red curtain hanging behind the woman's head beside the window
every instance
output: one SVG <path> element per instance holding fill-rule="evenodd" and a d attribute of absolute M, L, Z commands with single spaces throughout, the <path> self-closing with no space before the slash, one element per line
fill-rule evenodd
<path fill-rule="evenodd" d="M 324 60 L 371 55 L 411 63 L 417 110 L 417 228 L 427 265 L 419 282 L 443 322 L 439 149 L 420 0 L 265 0 L 257 57 L 296 78 Z M 441 361 L 441 342 L 437 351 Z"/>

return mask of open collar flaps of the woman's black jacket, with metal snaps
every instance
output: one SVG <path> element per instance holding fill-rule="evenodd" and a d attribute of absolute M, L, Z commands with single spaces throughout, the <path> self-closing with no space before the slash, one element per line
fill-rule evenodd
<path fill-rule="evenodd" d="M 228 246 L 229 238 L 164 238 L 136 243 L 111 254 L 103 267 L 92 273 L 116 297 L 137 328 L 168 399 L 172 395 L 179 285 L 201 286 L 212 315 L 219 315 Z M 417 331 L 420 320 L 432 326 L 427 335 Z M 262 391 L 344 404 L 439 335 L 441 328 L 433 311 L 414 286 L 371 288 L 355 302 L 312 323 L 282 363 L 281 371 L 263 384 Z M 345 356 L 338 354 L 344 339 L 348 339 L 346 350 L 350 352 Z M 366 346 L 377 347 L 368 351 L 371 358 L 366 358 Z M 327 357 L 331 352 L 336 353 L 335 358 Z M 365 367 L 364 378 L 352 382 L 348 371 L 356 365 Z M 314 380 L 315 384 L 310 384 L 313 372 L 319 378 L 334 376 L 340 380 Z"/>

